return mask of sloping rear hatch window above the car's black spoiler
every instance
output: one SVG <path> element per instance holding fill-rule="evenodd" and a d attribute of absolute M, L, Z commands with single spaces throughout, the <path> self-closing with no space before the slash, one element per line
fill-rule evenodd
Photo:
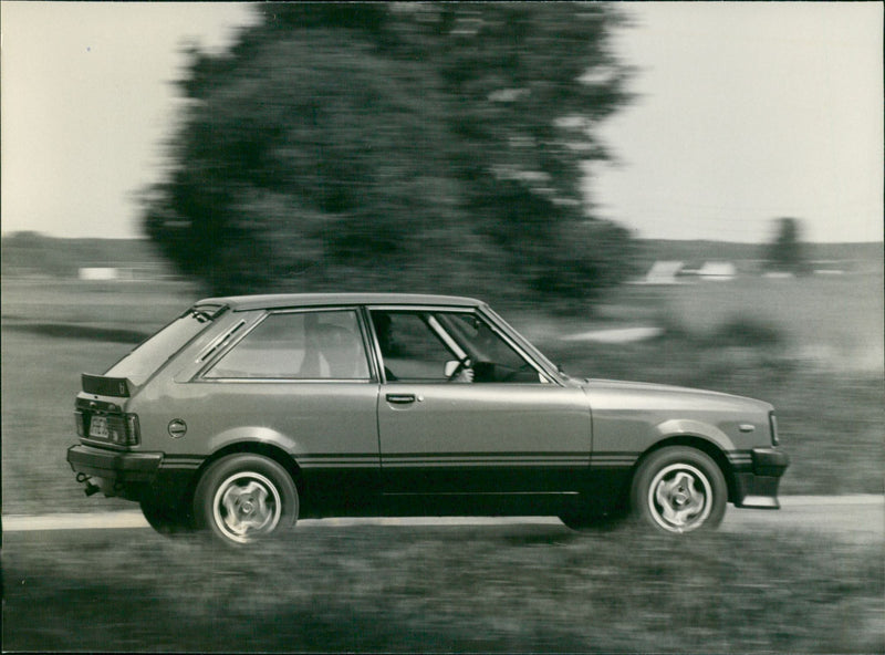
<path fill-rule="evenodd" d="M 218 308 L 188 310 L 154 336 L 142 342 L 128 355 L 114 364 L 105 375 L 108 377 L 127 377 L 135 385 L 144 384 L 157 368 L 180 351 L 191 339 L 206 330 L 219 313 Z"/>

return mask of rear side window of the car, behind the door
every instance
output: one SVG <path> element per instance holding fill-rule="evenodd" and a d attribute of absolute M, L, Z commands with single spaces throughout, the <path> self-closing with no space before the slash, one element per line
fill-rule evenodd
<path fill-rule="evenodd" d="M 354 310 L 269 314 L 205 378 L 368 381 Z"/>

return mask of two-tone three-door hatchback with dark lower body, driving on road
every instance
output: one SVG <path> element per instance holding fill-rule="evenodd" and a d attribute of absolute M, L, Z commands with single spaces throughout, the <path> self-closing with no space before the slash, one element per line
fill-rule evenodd
<path fill-rule="evenodd" d="M 566 375 L 487 303 L 400 293 L 210 298 L 83 374 L 87 495 L 238 547 L 299 518 L 558 516 L 717 527 L 778 509 L 774 410 Z"/>

